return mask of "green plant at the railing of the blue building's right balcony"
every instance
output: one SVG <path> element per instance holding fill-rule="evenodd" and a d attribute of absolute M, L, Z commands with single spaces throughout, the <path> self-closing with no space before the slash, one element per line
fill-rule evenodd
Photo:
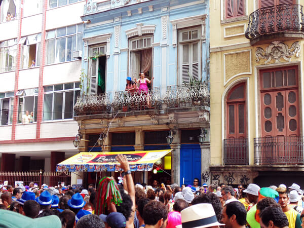
<path fill-rule="evenodd" d="M 201 105 L 202 97 L 201 97 L 201 90 L 202 90 L 202 79 L 198 80 L 193 78 L 191 74 L 189 74 L 189 83 L 183 82 L 183 85 L 188 91 L 188 95 L 191 97 L 193 105 Z"/>

